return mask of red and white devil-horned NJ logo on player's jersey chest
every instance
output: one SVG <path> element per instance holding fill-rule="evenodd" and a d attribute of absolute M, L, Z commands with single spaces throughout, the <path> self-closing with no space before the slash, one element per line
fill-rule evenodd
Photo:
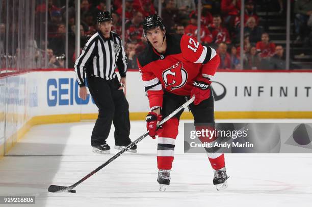
<path fill-rule="evenodd" d="M 181 62 L 177 62 L 163 72 L 163 80 L 167 90 L 171 91 L 185 85 L 188 74 Z"/>

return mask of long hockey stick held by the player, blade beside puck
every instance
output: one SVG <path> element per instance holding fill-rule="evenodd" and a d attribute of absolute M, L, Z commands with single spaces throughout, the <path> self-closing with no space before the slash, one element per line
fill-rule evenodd
<path fill-rule="evenodd" d="M 180 107 L 178 107 L 175 111 L 173 111 L 172 113 L 170 113 L 166 118 L 164 118 L 157 126 L 161 126 L 163 125 L 165 122 L 167 122 L 170 118 L 172 118 L 176 113 L 178 113 L 180 110 L 186 108 L 188 105 L 190 105 L 193 101 L 195 100 L 195 97 L 192 97 L 190 100 L 188 100 L 187 102 L 185 102 L 183 105 L 181 105 Z M 71 191 L 71 189 L 75 188 L 76 186 L 78 186 L 80 183 L 82 183 L 83 181 L 85 181 L 86 179 L 88 179 L 89 177 L 91 177 L 94 173 L 96 173 L 97 171 L 99 171 L 100 169 L 102 169 L 103 167 L 107 166 L 108 164 L 110 164 L 114 159 L 116 159 L 117 157 L 119 157 L 122 153 L 124 153 L 125 151 L 127 151 L 128 149 L 130 149 L 131 147 L 133 147 L 135 144 L 137 144 L 138 142 L 140 142 L 141 140 L 143 140 L 146 136 L 148 135 L 148 131 L 145 132 L 143 135 L 141 135 L 138 139 L 136 139 L 134 142 L 130 143 L 128 146 L 126 146 L 123 150 L 121 150 L 120 152 L 118 152 L 117 154 L 115 154 L 114 156 L 112 156 L 109 160 L 107 160 L 106 163 L 102 164 L 101 166 L 99 166 L 98 168 L 96 168 L 95 170 L 93 170 L 92 172 L 90 172 L 88 175 L 86 175 L 85 177 L 83 177 L 81 180 L 77 181 L 76 183 L 74 183 L 71 186 L 56 186 L 56 185 L 51 185 L 48 188 L 48 192 L 54 193 L 54 192 L 59 192 L 59 191 L 68 191 L 71 193 L 75 193 L 75 191 Z"/>

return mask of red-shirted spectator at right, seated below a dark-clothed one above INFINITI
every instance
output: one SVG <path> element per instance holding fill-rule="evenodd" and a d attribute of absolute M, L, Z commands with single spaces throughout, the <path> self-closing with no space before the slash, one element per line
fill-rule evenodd
<path fill-rule="evenodd" d="M 261 36 L 261 41 L 256 44 L 257 52 L 260 53 L 261 58 L 272 57 L 275 53 L 275 44 L 269 42 L 269 34 L 263 33 Z"/>

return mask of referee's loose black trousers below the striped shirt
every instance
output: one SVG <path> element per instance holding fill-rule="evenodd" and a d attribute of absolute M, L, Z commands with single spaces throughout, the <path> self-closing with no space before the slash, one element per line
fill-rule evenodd
<path fill-rule="evenodd" d="M 112 122 L 115 126 L 115 145 L 126 146 L 131 143 L 129 104 L 123 90 L 118 90 L 120 83 L 116 78 L 105 80 L 94 76 L 87 78 L 90 94 L 98 107 L 91 145 L 99 146 L 106 143 Z"/>

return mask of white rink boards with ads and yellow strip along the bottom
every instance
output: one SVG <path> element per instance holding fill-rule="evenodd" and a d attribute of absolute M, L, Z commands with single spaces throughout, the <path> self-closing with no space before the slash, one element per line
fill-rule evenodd
<path fill-rule="evenodd" d="M 219 72 L 213 79 L 216 119 L 312 118 L 312 73 L 309 71 Z M 0 155 L 31 126 L 95 119 L 88 95 L 79 98 L 71 70 L 35 70 L 0 77 Z M 126 98 L 132 120 L 149 110 L 141 75 L 127 73 Z M 186 112 L 183 118 L 192 118 Z M 6 142 L 5 138 L 6 137 Z M 4 145 L 6 143 L 6 145 Z"/>

